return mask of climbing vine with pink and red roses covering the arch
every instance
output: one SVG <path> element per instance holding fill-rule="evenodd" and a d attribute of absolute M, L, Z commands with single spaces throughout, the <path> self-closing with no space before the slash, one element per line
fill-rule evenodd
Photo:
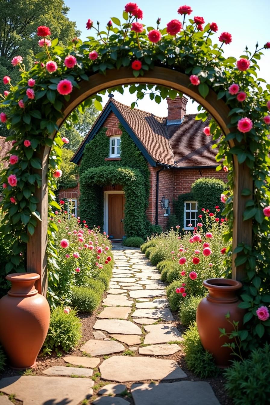
<path fill-rule="evenodd" d="M 229 220 L 229 231 L 225 241 L 232 237 L 232 189 L 233 189 L 233 157 L 240 164 L 245 164 L 254 180 L 254 188 L 243 189 L 246 198 L 246 209 L 243 220 L 253 222 L 252 246 L 241 243 L 236 247 L 236 265 L 244 265 L 247 278 L 244 282 L 242 307 L 247 309 L 244 318 L 246 329 L 242 334 L 245 347 L 259 345 L 258 338 L 266 339 L 270 333 L 270 320 L 262 322 L 256 315 L 259 307 L 270 303 L 270 217 L 269 217 L 269 111 L 270 85 L 261 86 L 264 79 L 257 78 L 258 61 L 262 50 L 270 48 L 269 42 L 256 46 L 255 51 L 245 49 L 239 58 L 224 58 L 223 49 L 232 43 L 232 35 L 222 29 L 216 22 L 206 23 L 204 16 L 195 16 L 190 6 L 180 6 L 171 21 L 165 21 L 160 27 L 161 19 L 156 25 L 146 27 L 143 24 L 143 11 L 135 3 L 126 4 L 122 22 L 117 17 L 108 21 L 105 30 L 100 30 L 91 19 L 86 22 L 89 36 L 85 42 L 74 38 L 63 49 L 53 39 L 54 33 L 49 27 L 40 26 L 37 35 L 40 53 L 36 55 L 36 63 L 26 72 L 23 58 L 16 55 L 11 64 L 21 71 L 19 83 L 12 83 L 5 76 L 4 95 L 1 95 L 1 122 L 6 123 L 13 141 L 9 156 L 17 156 L 17 162 L 10 162 L 2 173 L 3 194 L 2 209 L 5 212 L 1 232 L 4 232 L 6 243 L 13 247 L 13 257 L 6 265 L 6 272 L 23 271 L 25 259 L 25 243 L 29 235 L 34 234 L 40 214 L 37 210 L 38 198 L 36 189 L 41 186 L 41 156 L 44 150 L 50 151 L 48 167 L 49 185 L 49 217 L 55 215 L 52 210 L 60 209 L 55 201 L 54 177 L 61 176 L 61 147 L 64 140 L 58 132 L 64 106 L 69 102 L 75 89 L 85 81 L 91 81 L 91 75 L 106 74 L 111 69 L 132 70 L 134 80 L 155 66 L 174 69 L 189 77 L 194 90 L 198 90 L 203 98 L 207 98 L 210 89 L 217 94 L 230 108 L 229 133 L 221 133 L 216 122 L 210 121 L 209 128 L 204 129 L 206 136 L 213 136 L 217 141 L 217 161 L 222 161 L 217 170 L 222 168 L 228 175 L 228 190 L 222 199 L 226 201 L 223 214 Z M 217 43 L 216 43 L 217 42 Z M 238 91 L 239 89 L 239 91 Z M 119 91 L 118 86 L 109 91 Z M 142 99 L 145 91 L 150 91 L 151 100 L 160 103 L 161 98 L 175 98 L 177 92 L 162 86 L 146 84 L 130 85 L 131 94 L 137 100 Z M 106 89 L 101 93 L 104 94 Z M 94 102 L 102 109 L 100 95 L 85 100 L 79 110 Z M 136 101 L 132 102 L 132 108 Z M 198 107 L 197 119 L 203 121 L 207 112 Z M 77 122 L 75 111 L 66 121 L 70 128 L 70 120 Z M 205 136 L 202 133 L 202 136 Z M 228 141 L 235 146 L 229 149 Z M 11 200 L 12 199 L 12 200 Z M 44 219 L 43 219 L 44 220 Z M 49 266 L 54 268 L 56 250 L 54 236 L 57 225 L 49 222 L 48 253 Z M 231 251 L 228 251 L 228 255 Z M 195 264 L 194 264 L 195 265 Z M 55 267 L 56 268 L 56 267 Z M 55 270 L 53 282 L 57 284 Z"/>

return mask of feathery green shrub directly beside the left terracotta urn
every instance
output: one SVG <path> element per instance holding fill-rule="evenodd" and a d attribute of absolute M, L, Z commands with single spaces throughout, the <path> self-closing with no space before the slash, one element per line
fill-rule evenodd
<path fill-rule="evenodd" d="M 81 320 L 75 309 L 64 313 L 64 307 L 56 307 L 51 311 L 48 335 L 43 345 L 43 352 L 51 350 L 73 350 L 81 340 Z"/>

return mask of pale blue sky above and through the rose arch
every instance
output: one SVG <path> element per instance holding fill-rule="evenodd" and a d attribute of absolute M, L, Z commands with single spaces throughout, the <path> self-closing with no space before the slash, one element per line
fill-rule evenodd
<path fill-rule="evenodd" d="M 136 0 L 132 0 L 136 1 Z M 126 1 L 128 2 L 128 1 Z M 70 7 L 68 17 L 72 21 L 76 21 L 77 28 L 81 30 L 80 38 L 85 40 L 89 31 L 86 30 L 85 24 L 87 19 L 95 22 L 98 20 L 100 26 L 106 26 L 111 17 L 121 19 L 125 0 L 65 0 L 65 4 Z M 199 15 L 204 17 L 206 22 L 215 21 L 219 27 L 219 34 L 222 31 L 227 31 L 232 34 L 232 43 L 223 45 L 225 56 L 234 56 L 238 58 L 244 51 L 247 45 L 250 51 L 255 49 L 255 44 L 258 41 L 262 47 L 266 42 L 270 41 L 269 33 L 269 0 L 184 0 L 183 2 L 175 0 L 138 0 L 138 6 L 143 11 L 142 23 L 146 26 L 155 26 L 155 21 L 158 17 L 161 18 L 161 28 L 166 26 L 166 23 L 171 19 L 182 20 L 182 17 L 177 13 L 179 6 L 188 4 L 193 9 L 190 17 Z M 93 32 L 94 33 L 94 32 Z M 91 32 L 91 34 L 93 34 Z M 216 37 L 218 35 L 216 34 Z M 214 36 L 212 37 L 215 38 Z M 217 38 L 218 42 L 218 38 Z M 259 65 L 261 67 L 260 77 L 270 83 L 270 49 L 264 50 L 265 55 L 261 58 Z M 130 104 L 135 101 L 134 95 L 129 92 L 124 92 L 124 95 L 115 94 L 115 99 Z M 108 100 L 104 96 L 104 103 Z M 139 108 L 150 111 L 159 116 L 167 115 L 166 100 L 158 105 L 149 100 L 146 96 L 139 102 Z M 192 104 L 189 100 L 187 104 L 187 113 L 197 111 L 196 103 Z"/>

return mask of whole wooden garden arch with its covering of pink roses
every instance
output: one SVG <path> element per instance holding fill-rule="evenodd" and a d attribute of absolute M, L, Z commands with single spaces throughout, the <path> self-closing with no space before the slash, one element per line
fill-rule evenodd
<path fill-rule="evenodd" d="M 41 275 L 39 292 L 46 294 L 47 279 L 57 284 L 57 228 L 49 218 L 60 208 L 53 194 L 54 177 L 61 175 L 63 141 L 58 130 L 65 122 L 70 125 L 68 117 L 76 122 L 76 107 L 83 112 L 94 102 L 100 108 L 98 94 L 123 92 L 123 85 L 131 85 L 137 99 L 149 90 L 156 102 L 161 100 L 156 91 L 162 98 L 185 93 L 200 104 L 198 119 L 211 115 L 204 132 L 217 140 L 217 170 L 228 170 L 229 190 L 222 198 L 231 229 L 225 238 L 233 240 L 232 277 L 245 282 L 256 304 L 270 302 L 270 85 L 264 90 L 264 80 L 257 79 L 261 49 L 270 43 L 253 54 L 247 49 L 239 60 L 224 58 L 222 47 L 230 44 L 231 35 L 222 32 L 219 45 L 212 43 L 217 24 L 203 26 L 202 17 L 189 19 L 190 7 L 179 8 L 182 21 L 174 19 L 160 29 L 158 19 L 154 29 L 140 22 L 142 11 L 135 6 L 127 4 L 123 22 L 112 18 L 106 31 L 88 20 L 96 38 L 74 38 L 65 49 L 57 39 L 49 40 L 49 28 L 39 27 L 42 51 L 34 67 L 26 72 L 17 56 L 12 64 L 21 69 L 21 81 L 13 85 L 4 77 L 10 92 L 2 96 L 0 118 L 11 131 L 7 139 L 12 148 L 6 157 L 9 167 L 2 172 L 6 214 L 1 232 L 14 253 L 6 272 L 23 271 L 26 259 L 27 271 Z"/>

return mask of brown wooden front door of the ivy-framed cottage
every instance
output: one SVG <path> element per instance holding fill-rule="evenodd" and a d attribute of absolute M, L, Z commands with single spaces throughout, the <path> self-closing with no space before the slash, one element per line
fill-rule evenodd
<path fill-rule="evenodd" d="M 111 239 L 122 239 L 125 194 L 108 194 L 108 234 Z"/>

